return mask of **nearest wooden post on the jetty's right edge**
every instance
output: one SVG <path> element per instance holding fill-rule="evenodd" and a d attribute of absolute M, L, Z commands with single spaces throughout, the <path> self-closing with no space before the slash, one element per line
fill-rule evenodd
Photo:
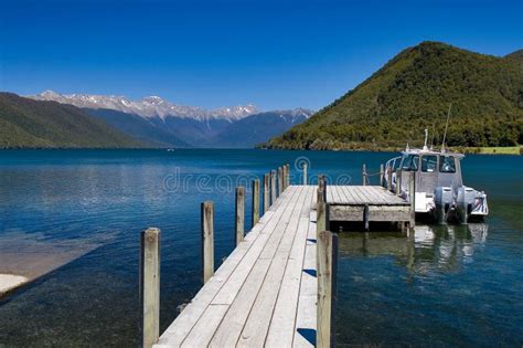
<path fill-rule="evenodd" d="M 334 346 L 334 302 L 337 285 L 338 235 L 321 231 L 317 239 L 318 307 L 316 347 Z"/>

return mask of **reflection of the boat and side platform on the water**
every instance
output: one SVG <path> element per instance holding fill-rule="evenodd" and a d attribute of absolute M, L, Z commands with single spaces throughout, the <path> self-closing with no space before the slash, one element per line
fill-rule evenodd
<path fill-rule="evenodd" d="M 391 232 L 342 233 L 340 257 L 394 256 L 413 274 L 455 271 L 484 247 L 489 225 L 416 225 L 407 235 Z"/>

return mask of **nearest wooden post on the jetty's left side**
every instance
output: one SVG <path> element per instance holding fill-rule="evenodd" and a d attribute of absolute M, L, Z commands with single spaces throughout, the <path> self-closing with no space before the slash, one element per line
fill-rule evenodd
<path fill-rule="evenodd" d="M 160 337 L 160 230 L 141 232 L 141 344 L 150 348 Z"/>

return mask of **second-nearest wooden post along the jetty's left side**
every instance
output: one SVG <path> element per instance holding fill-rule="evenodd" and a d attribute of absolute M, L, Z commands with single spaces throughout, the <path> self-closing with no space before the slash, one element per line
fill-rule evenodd
<path fill-rule="evenodd" d="M 214 204 L 202 203 L 202 265 L 203 283 L 214 275 Z"/>

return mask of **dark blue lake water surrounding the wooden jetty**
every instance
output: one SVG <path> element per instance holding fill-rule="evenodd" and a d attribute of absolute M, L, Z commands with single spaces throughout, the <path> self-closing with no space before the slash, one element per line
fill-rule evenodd
<path fill-rule="evenodd" d="M 375 171 L 392 155 L 0 151 L 0 252 L 81 255 L 0 302 L 0 346 L 137 346 L 143 228 L 162 231 L 163 330 L 201 287 L 202 201 L 215 202 L 220 264 L 234 247 L 236 182 L 284 162 L 299 182 L 292 164 L 307 157 L 311 176 L 360 183 L 363 162 Z M 523 345 L 523 159 L 469 156 L 462 168 L 489 194 L 485 223 L 340 236 L 338 345 Z"/>

